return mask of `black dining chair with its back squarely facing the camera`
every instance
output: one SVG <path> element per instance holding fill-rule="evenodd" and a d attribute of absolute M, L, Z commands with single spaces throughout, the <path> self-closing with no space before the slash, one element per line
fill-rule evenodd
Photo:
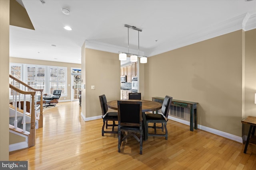
<path fill-rule="evenodd" d="M 142 101 L 120 101 L 118 105 L 118 152 L 120 152 L 122 141 L 133 136 L 140 143 L 140 154 L 142 154 L 143 124 L 142 124 Z M 127 132 L 124 136 L 123 132 Z M 137 133 L 140 137 L 137 137 Z"/>

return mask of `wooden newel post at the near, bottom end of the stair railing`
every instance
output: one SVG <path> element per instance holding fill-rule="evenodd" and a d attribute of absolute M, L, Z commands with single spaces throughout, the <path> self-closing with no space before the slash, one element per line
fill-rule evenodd
<path fill-rule="evenodd" d="M 33 92 L 33 94 L 31 94 L 31 99 L 32 99 L 32 106 L 34 106 L 35 103 L 35 93 Z M 31 109 L 31 126 L 30 126 L 30 142 L 29 145 L 30 147 L 35 145 L 35 139 L 36 139 L 36 128 L 35 128 L 35 108 L 32 107 Z"/>

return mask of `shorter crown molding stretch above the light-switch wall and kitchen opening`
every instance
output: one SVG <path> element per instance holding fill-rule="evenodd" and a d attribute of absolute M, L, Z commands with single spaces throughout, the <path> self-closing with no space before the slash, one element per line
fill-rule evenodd
<path fill-rule="evenodd" d="M 94 41 L 94 40 L 90 40 L 90 39 L 85 40 L 85 47 L 88 49 L 106 51 L 106 52 L 110 52 L 110 53 L 118 53 L 119 51 L 124 52 L 124 53 L 128 52 L 128 48 L 120 47 L 117 45 L 111 45 L 108 43 L 102 43 L 102 42 Z M 129 48 L 129 53 L 138 54 L 138 50 Z M 144 56 L 144 51 L 140 51 L 140 56 Z"/>

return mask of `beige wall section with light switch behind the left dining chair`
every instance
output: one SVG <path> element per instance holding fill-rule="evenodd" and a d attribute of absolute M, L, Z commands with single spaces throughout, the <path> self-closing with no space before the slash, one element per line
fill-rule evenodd
<path fill-rule="evenodd" d="M 102 115 L 99 96 L 108 101 L 120 99 L 120 61 L 118 54 L 85 49 L 86 117 Z M 91 90 L 91 86 L 95 90 Z M 82 99 L 83 101 L 83 99 Z"/>

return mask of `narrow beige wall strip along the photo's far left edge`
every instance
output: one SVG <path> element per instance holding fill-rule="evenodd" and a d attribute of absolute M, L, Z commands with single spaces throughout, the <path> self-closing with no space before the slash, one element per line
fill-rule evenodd
<path fill-rule="evenodd" d="M 0 160 L 9 160 L 9 15 L 10 1 L 0 0 Z"/>

